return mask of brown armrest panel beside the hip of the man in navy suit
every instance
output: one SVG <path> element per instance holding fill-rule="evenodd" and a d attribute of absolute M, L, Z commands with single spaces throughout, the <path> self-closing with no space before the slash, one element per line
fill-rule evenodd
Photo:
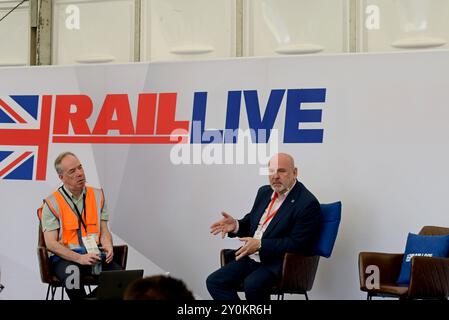
<path fill-rule="evenodd" d="M 288 252 L 284 255 L 280 289 L 286 292 L 306 292 L 312 289 L 320 256 L 304 256 Z"/>

